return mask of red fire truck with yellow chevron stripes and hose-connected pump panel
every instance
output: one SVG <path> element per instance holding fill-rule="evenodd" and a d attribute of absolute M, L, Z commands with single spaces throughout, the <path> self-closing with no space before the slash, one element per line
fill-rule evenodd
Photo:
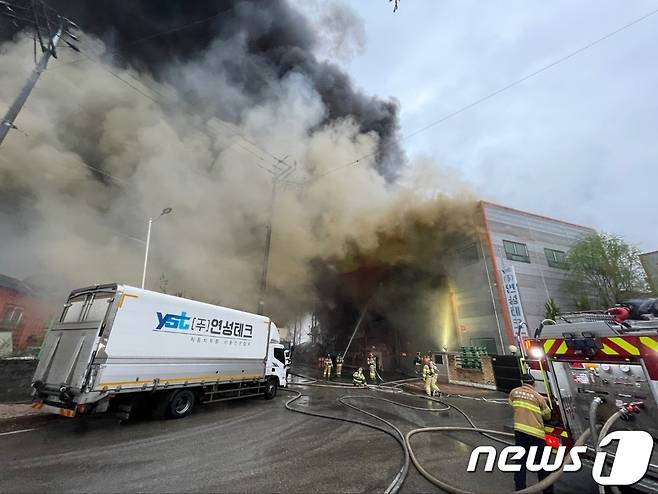
<path fill-rule="evenodd" d="M 546 444 L 571 447 L 618 411 L 622 420 L 611 430 L 643 430 L 658 441 L 658 318 L 622 323 L 606 313 L 571 313 L 519 340 L 526 370 L 553 410 Z M 591 458 L 595 441 L 586 444 Z M 601 451 L 611 464 L 614 453 Z M 634 487 L 658 492 L 658 448 Z"/>

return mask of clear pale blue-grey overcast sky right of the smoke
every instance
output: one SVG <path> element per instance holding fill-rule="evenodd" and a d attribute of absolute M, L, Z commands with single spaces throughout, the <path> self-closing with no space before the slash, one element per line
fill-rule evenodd
<path fill-rule="evenodd" d="M 409 134 L 658 9 L 650 1 L 347 1 L 343 65 Z M 405 140 L 484 198 L 658 248 L 658 14 Z"/>

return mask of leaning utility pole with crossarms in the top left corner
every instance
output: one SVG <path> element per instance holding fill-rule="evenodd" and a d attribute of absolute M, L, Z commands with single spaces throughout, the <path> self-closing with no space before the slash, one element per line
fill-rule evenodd
<path fill-rule="evenodd" d="M 34 62 L 35 67 L 28 77 L 27 81 L 14 99 L 11 106 L 5 113 L 0 125 L 0 145 L 9 133 L 9 130 L 16 128 L 15 121 L 18 113 L 23 108 L 28 96 L 32 92 L 35 84 L 39 80 L 41 73 L 46 70 L 50 57 L 57 58 L 57 45 L 60 40 L 66 43 L 75 51 L 80 51 L 77 46 L 71 43 L 67 38 L 78 41 L 78 38 L 70 33 L 70 29 L 78 29 L 78 26 L 66 17 L 57 14 L 56 11 L 46 6 L 43 0 L 31 0 L 26 5 L 18 5 L 14 2 L 0 0 L 0 13 L 11 19 L 16 27 L 21 25 L 30 26 L 33 31 L 34 39 Z M 41 58 L 37 62 L 37 40 L 41 46 Z"/>

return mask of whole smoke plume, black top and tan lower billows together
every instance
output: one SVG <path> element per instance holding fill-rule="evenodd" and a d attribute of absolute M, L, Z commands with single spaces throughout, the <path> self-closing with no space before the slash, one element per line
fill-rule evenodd
<path fill-rule="evenodd" d="M 266 311 L 279 322 L 319 302 L 314 266 L 413 263 L 474 232 L 468 186 L 401 151 L 397 102 L 323 58 L 358 23 L 325 28 L 284 1 L 60 3 L 102 61 L 61 48 L 3 143 L 0 272 L 66 290 L 138 284 L 147 218 L 172 207 L 154 224 L 147 287 L 255 310 L 273 156 L 297 166 L 274 208 Z M 225 12 L 199 32 L 131 44 L 210 4 Z M 31 52 L 20 33 L 1 46 L 3 104 Z"/>

